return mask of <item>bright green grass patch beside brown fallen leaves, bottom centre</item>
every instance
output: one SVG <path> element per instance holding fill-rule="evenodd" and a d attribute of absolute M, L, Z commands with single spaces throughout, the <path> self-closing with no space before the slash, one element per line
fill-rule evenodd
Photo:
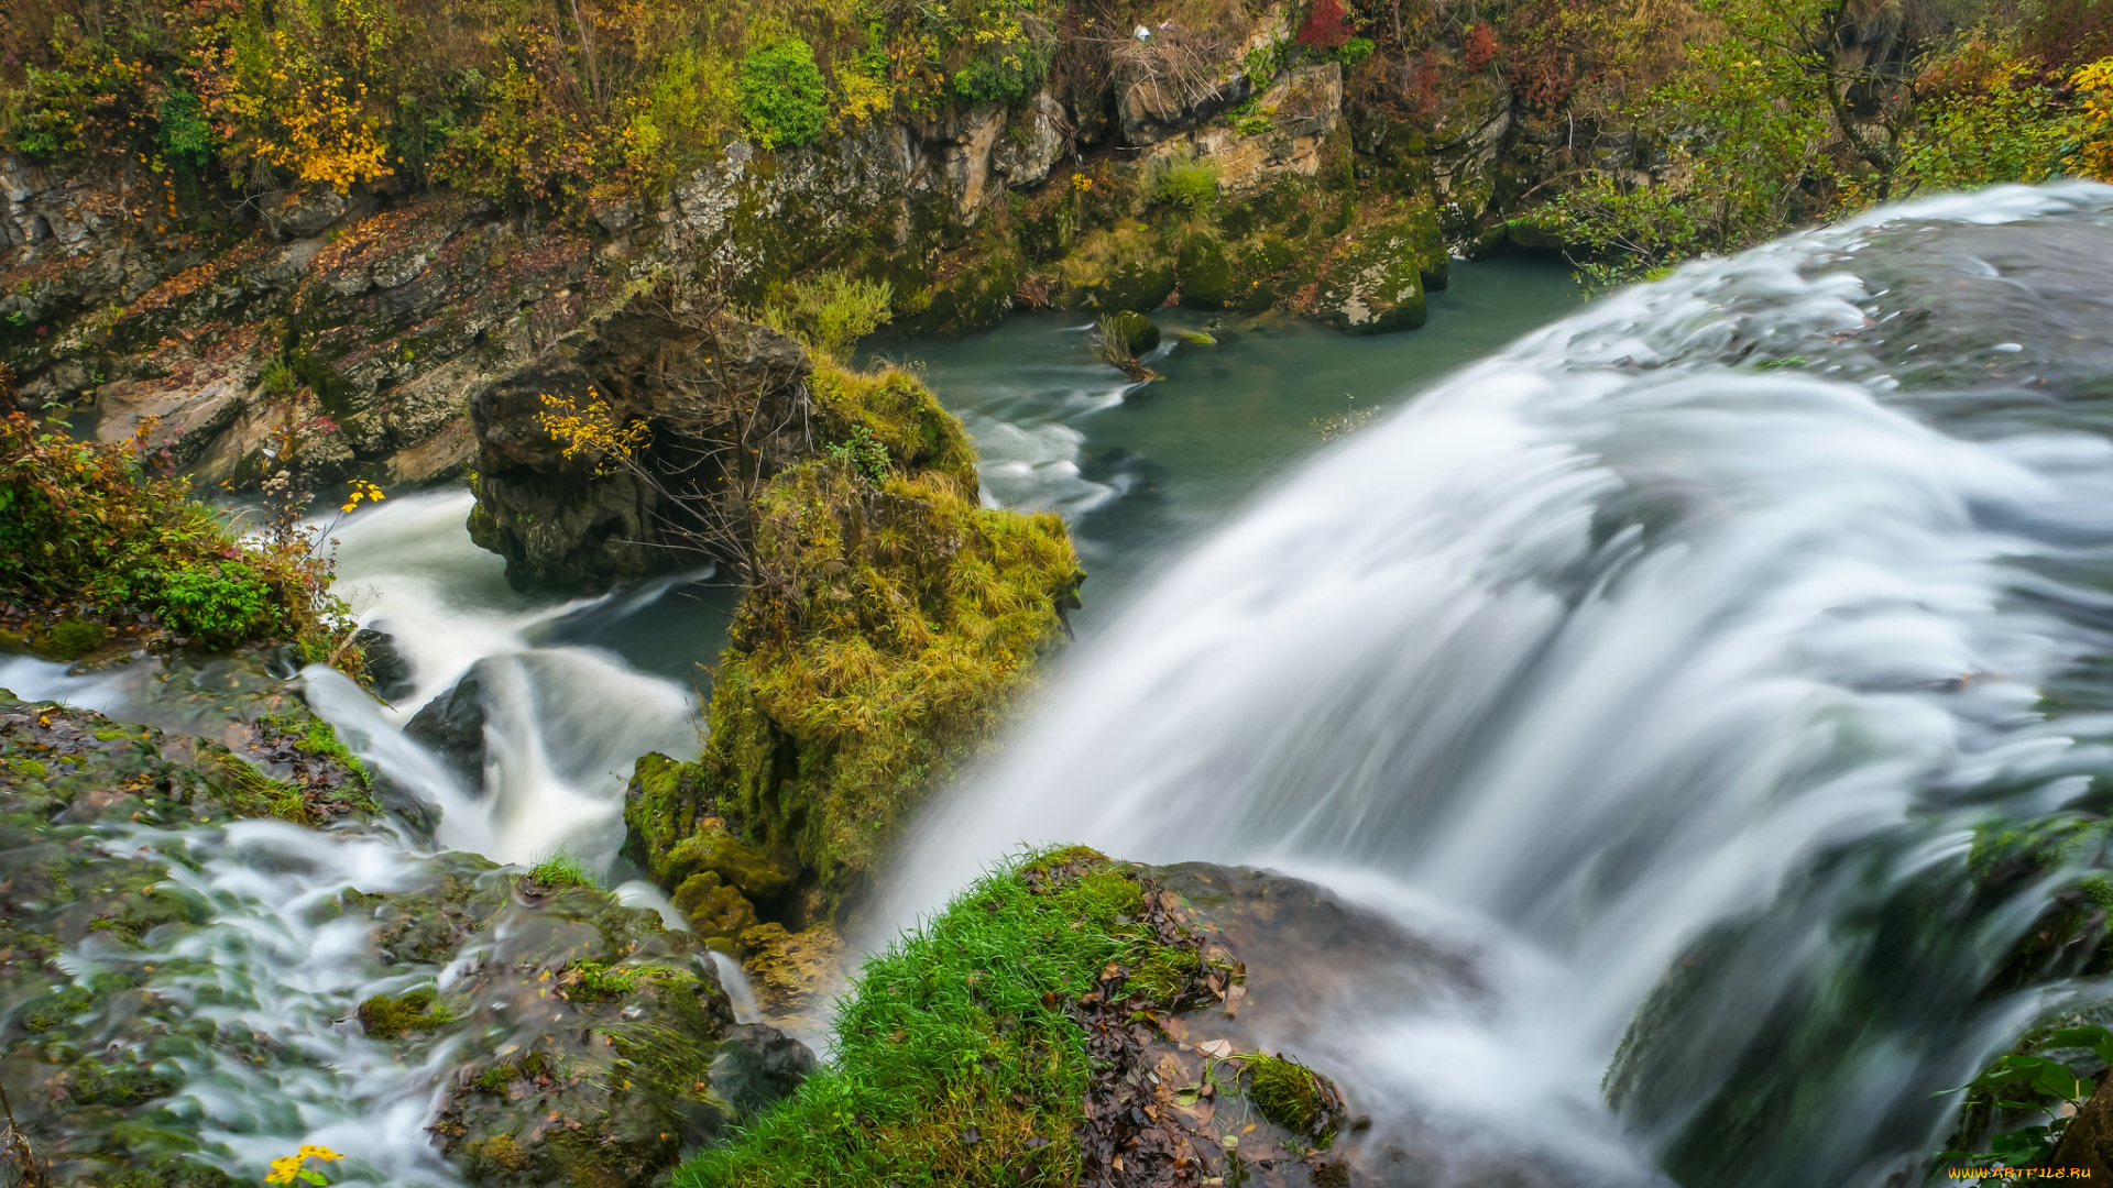
<path fill-rule="evenodd" d="M 1141 903 L 1092 850 L 1012 858 L 868 960 L 835 1065 L 674 1184 L 1076 1182 L 1092 1063 L 1071 1008 L 1109 962 L 1149 968 L 1166 949 L 1128 922 Z"/>

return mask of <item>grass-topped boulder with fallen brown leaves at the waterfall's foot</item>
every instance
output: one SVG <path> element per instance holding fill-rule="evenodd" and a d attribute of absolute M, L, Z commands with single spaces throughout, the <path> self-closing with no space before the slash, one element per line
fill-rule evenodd
<path fill-rule="evenodd" d="M 1261 1051 L 1255 1023 L 1314 1006 L 1297 989 L 1331 962 L 1369 972 L 1365 945 L 1424 955 L 1261 871 L 1014 858 L 868 960 L 835 1065 L 676 1184 L 1352 1184 L 1359 1154 L 1331 1150 L 1357 1125 L 1342 1093 Z M 1257 974 L 1287 991 L 1274 1017 L 1249 1006 Z"/>

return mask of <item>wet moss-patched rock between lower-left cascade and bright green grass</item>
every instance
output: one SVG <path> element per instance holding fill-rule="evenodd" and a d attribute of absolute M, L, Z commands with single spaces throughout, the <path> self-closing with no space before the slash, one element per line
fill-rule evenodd
<path fill-rule="evenodd" d="M 505 877 L 501 877 L 501 884 Z M 412 1044 L 463 1042 L 433 1133 L 478 1184 L 642 1184 L 799 1087 L 814 1055 L 735 1027 L 702 943 L 592 888 L 524 898 L 490 875 L 442 991 L 446 1023 Z"/>

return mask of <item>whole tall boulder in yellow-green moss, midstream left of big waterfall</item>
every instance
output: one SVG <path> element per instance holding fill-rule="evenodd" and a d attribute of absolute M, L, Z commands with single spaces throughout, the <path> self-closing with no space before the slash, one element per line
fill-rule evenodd
<path fill-rule="evenodd" d="M 704 757 L 642 763 L 625 797 L 632 860 L 727 924 L 723 888 L 801 930 L 875 873 L 923 791 L 1067 638 L 1084 581 L 1061 520 L 983 507 L 966 433 L 911 376 L 824 370 L 816 389 L 824 435 L 864 429 L 864 444 L 756 499 L 761 579 L 712 683 Z M 881 402 L 913 408 L 873 416 Z M 733 841 L 797 886 L 704 860 Z"/>

